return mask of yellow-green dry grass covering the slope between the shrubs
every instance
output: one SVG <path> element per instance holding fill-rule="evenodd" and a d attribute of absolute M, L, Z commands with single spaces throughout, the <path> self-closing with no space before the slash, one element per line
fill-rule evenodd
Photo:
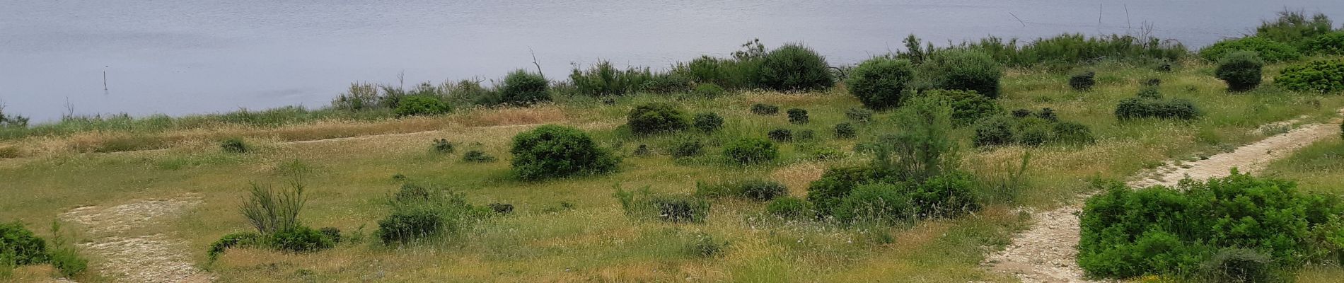
<path fill-rule="evenodd" d="M 1270 66 L 1277 74 L 1282 66 Z M 155 131 L 85 131 L 56 137 L 28 137 L 0 146 L 17 148 L 20 158 L 0 160 L 0 176 L 9 197 L 0 199 L 0 219 L 20 220 L 39 235 L 46 224 L 73 208 L 117 205 L 133 200 L 199 196 L 204 203 L 171 221 L 132 231 L 184 239 L 195 264 L 219 282 L 1013 282 L 978 267 L 988 252 L 1001 248 L 1027 225 L 1025 211 L 1048 209 L 1090 189 L 1093 178 L 1125 178 L 1167 160 L 1195 160 L 1257 141 L 1277 129 L 1259 125 L 1304 117 L 1302 122 L 1332 118 L 1344 98 L 1281 91 L 1273 86 L 1228 94 L 1212 78 L 1212 66 L 1185 62 L 1173 72 L 1122 63 L 1103 63 L 1093 91 L 1073 91 L 1060 72 L 1012 68 L 1003 79 L 999 102 L 1008 110 L 1054 109 L 1064 121 L 1091 127 L 1098 141 L 1087 146 L 1008 146 L 992 150 L 969 145 L 972 130 L 958 129 L 964 166 L 980 176 L 1001 174 L 1031 153 L 1028 186 L 1015 201 L 992 201 L 985 209 L 953 220 L 930 220 L 898 227 L 847 228 L 829 223 L 781 220 L 763 204 L 715 200 L 703 224 L 669 224 L 625 216 L 612 194 L 616 188 L 648 186 L 655 192 L 694 192 L 698 181 L 749 177 L 775 180 L 790 194 L 805 196 L 808 182 L 829 166 L 867 162 L 853 152 L 900 125 L 890 113 L 859 126 L 859 138 L 836 139 L 835 123 L 844 111 L 860 107 L 844 87 L 825 93 L 780 94 L 746 91 L 715 99 L 681 101 L 668 95 L 630 95 L 607 105 L 570 98 L 527 109 L 473 109 L 431 118 L 386 121 L 320 121 L 288 126 L 211 126 Z M 1270 75 L 1271 76 L 1271 75 Z M 1120 122 L 1117 102 L 1133 97 L 1140 82 L 1161 79 L 1167 97 L 1188 98 L 1206 115 L 1192 122 Z M 624 127 L 633 105 L 672 102 L 688 113 L 714 111 L 726 118 L 712 135 L 672 134 L 637 137 Z M 754 115 L 753 103 L 781 109 L 801 107 L 810 123 L 790 125 L 784 114 Z M 616 174 L 523 182 L 508 176 L 508 142 L 538 123 L 578 126 L 624 156 Z M 726 141 L 763 137 L 775 127 L 814 130 L 814 142 L 782 145 L 782 158 L 761 165 L 728 165 L 719 157 Z M 321 142 L 320 138 L 359 137 Z M 245 137 L 255 150 L 235 154 L 219 150 L 220 137 Z M 457 154 L 431 152 L 431 139 L 448 138 Z M 672 142 L 704 141 L 707 153 L 675 160 L 661 154 Z M 164 142 L 163 150 L 86 153 L 82 145 L 109 141 Z M 648 145 L 653 156 L 634 156 Z M 466 149 L 481 149 L 500 161 L 462 162 Z M 816 158 L 817 149 L 833 149 L 836 158 Z M 1274 165 L 1274 174 L 1300 180 L 1309 190 L 1344 192 L 1337 182 L 1340 142 L 1316 145 Z M 114 152 L 114 150 L 113 150 Z M 465 193 L 473 204 L 507 203 L 508 216 L 492 217 L 456 236 L 410 247 L 386 247 L 376 240 L 344 243 L 314 253 L 233 249 L 208 263 L 206 247 L 220 235 L 251 229 L 238 212 L 249 182 L 271 184 L 277 164 L 300 160 L 314 168 L 309 203 L 301 219 L 312 227 L 336 227 L 371 235 L 386 216 L 390 193 L 402 182 L 438 184 Z M 1301 162 L 1297 162 L 1301 161 Z M 405 176 L 405 180 L 394 176 Z M 74 227 L 83 231 L 86 227 Z M 687 252 L 698 236 L 728 243 L 722 256 Z M 90 255 L 97 271 L 102 259 Z M 42 267 L 35 267 L 42 268 Z M 23 272 L 38 272 L 22 268 Z M 23 274 L 20 272 L 20 274 Z M 1305 280 L 1337 278 L 1339 268 L 1312 268 Z M 90 272 L 97 274 L 97 272 Z M 85 275 L 81 282 L 110 278 Z"/>

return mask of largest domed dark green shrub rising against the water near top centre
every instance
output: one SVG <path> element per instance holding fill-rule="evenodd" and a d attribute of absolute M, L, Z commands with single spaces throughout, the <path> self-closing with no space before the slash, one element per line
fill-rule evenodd
<path fill-rule="evenodd" d="M 827 59 L 798 44 L 771 50 L 761 60 L 761 86 L 778 91 L 821 90 L 835 84 Z"/>

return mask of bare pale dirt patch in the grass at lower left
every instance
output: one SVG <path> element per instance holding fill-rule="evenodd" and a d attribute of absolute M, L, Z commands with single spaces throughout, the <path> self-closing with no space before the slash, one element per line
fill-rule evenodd
<path fill-rule="evenodd" d="M 85 228 L 93 240 L 79 247 L 93 253 L 93 268 L 117 282 L 210 282 L 211 275 L 191 262 L 187 243 L 172 235 L 137 235 L 137 229 L 161 223 L 200 205 L 199 196 L 168 200 L 136 200 L 110 208 L 82 207 L 60 219 Z"/>

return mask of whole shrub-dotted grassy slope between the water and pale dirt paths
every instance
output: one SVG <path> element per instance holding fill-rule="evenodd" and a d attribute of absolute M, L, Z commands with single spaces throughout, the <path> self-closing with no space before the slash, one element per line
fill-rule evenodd
<path fill-rule="evenodd" d="M 0 211 L 51 223 L 200 194 L 133 232 L 183 239 L 228 282 L 1012 282 L 980 264 L 1031 224 L 1021 208 L 1094 192 L 1078 263 L 1095 279 L 1328 282 L 1344 274 L 1340 142 L 1269 177 L 1117 180 L 1274 134 L 1261 125 L 1332 119 L 1340 32 L 1289 12 L 1198 52 L 911 35 L 856 66 L 753 40 L 668 70 L 355 83 L 320 110 L 3 113 Z M 0 276 L 50 263 L 108 280 L 69 240 L 43 245 L 69 239 L 59 228 L 0 233 Z"/>

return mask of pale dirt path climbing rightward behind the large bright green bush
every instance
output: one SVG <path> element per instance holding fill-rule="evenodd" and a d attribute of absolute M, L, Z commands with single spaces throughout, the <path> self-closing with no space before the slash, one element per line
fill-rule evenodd
<path fill-rule="evenodd" d="M 1138 178 L 1129 181 L 1128 185 L 1130 188 L 1176 185 L 1187 176 L 1195 180 L 1220 177 L 1232 168 L 1247 173 L 1261 172 L 1270 161 L 1288 157 L 1321 138 L 1337 135 L 1336 123 L 1305 125 L 1208 160 L 1183 165 L 1168 162 L 1165 166 L 1138 174 Z M 1004 251 L 986 258 L 984 266 L 992 271 L 1016 275 L 1024 283 L 1091 282 L 1083 279 L 1083 271 L 1075 262 L 1078 215 L 1086 197 L 1089 196 L 1075 199 L 1054 211 L 1032 213 L 1032 227 L 1013 237 L 1012 244 Z"/>

